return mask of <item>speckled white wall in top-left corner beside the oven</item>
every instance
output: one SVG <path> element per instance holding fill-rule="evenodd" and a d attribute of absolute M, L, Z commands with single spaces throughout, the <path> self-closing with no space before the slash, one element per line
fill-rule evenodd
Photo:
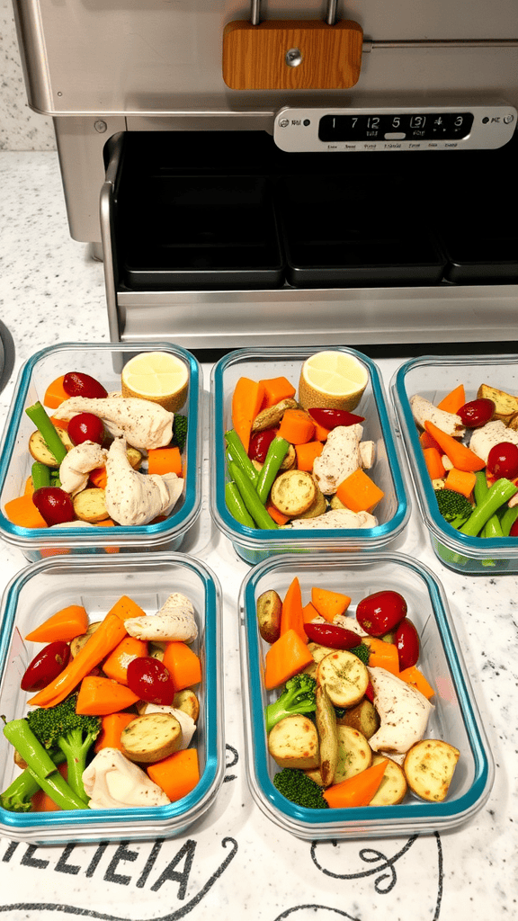
<path fill-rule="evenodd" d="M 0 150 L 54 150 L 53 120 L 29 109 L 12 0 L 0 0 Z"/>

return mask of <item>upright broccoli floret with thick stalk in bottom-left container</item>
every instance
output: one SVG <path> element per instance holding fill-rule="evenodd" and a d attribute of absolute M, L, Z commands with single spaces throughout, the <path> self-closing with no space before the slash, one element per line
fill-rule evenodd
<path fill-rule="evenodd" d="M 83 717 L 76 713 L 77 694 L 66 697 L 61 704 L 38 707 L 27 718 L 29 728 L 45 749 L 57 747 L 66 758 L 68 784 L 77 796 L 87 799 L 83 771 L 88 752 L 97 739 L 100 717 Z"/>

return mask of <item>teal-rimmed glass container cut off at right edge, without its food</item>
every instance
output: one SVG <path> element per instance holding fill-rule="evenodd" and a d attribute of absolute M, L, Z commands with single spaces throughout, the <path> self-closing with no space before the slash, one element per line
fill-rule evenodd
<path fill-rule="evenodd" d="M 477 397 L 477 390 L 482 383 L 518 394 L 518 356 L 412 358 L 397 369 L 390 390 L 418 497 L 418 507 L 430 532 L 435 554 L 441 563 L 454 572 L 490 576 L 502 572 L 518 572 L 518 541 L 511 537 L 468 537 L 460 534 L 442 518 L 409 402 L 418 393 L 437 404 L 458 384 L 464 384 L 467 402 Z"/>

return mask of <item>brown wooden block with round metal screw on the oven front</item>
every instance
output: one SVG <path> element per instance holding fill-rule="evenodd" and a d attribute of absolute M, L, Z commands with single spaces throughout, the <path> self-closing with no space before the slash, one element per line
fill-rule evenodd
<path fill-rule="evenodd" d="M 230 89 L 347 89 L 359 79 L 363 30 L 342 19 L 230 22 L 223 33 L 223 79 Z M 300 64 L 286 54 L 298 49 Z"/>

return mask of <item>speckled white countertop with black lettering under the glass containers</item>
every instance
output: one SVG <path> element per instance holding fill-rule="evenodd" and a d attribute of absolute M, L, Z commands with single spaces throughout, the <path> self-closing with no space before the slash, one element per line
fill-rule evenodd
<path fill-rule="evenodd" d="M 0 185 L 0 320 L 14 339 L 16 374 L 46 345 L 107 341 L 108 321 L 102 266 L 68 236 L 55 153 L 1 153 Z M 388 384 L 398 362 L 378 364 Z M 0 394 L 0 428 L 14 383 L 15 375 Z M 10 921 L 212 921 L 245 912 L 252 921 L 518 918 L 518 577 L 454 575 L 432 553 L 414 509 L 394 549 L 441 579 L 496 764 L 489 801 L 472 822 L 446 834 L 312 845 L 255 807 L 243 764 L 238 653 L 237 598 L 248 566 L 215 532 L 204 495 L 182 550 L 202 556 L 223 586 L 227 769 L 216 805 L 171 841 L 36 847 L 0 839 L 0 914 Z M 3 544 L 0 590 L 25 565 Z"/>

